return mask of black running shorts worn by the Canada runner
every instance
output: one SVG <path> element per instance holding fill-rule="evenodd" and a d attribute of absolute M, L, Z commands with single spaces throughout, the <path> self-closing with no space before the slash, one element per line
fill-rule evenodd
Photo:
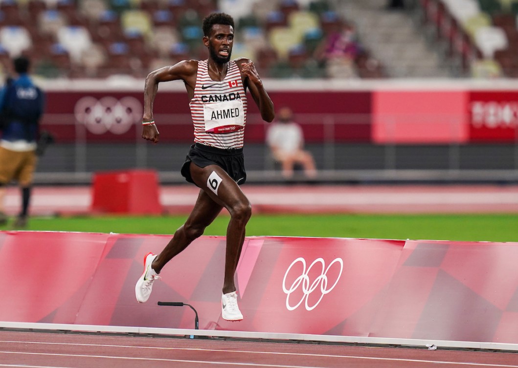
<path fill-rule="evenodd" d="M 247 180 L 242 148 L 221 149 L 200 143 L 191 145 L 182 165 L 181 173 L 186 181 L 195 184 L 189 168 L 191 162 L 199 167 L 218 165 L 239 185 Z"/>

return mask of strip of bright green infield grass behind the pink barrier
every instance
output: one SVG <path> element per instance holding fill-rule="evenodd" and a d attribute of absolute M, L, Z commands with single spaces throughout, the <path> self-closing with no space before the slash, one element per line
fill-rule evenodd
<path fill-rule="evenodd" d="M 186 216 L 32 217 L 26 230 L 173 234 Z M 225 213 L 205 235 L 225 235 Z M 9 225 L 0 229 L 9 229 Z M 254 214 L 247 236 L 518 242 L 516 214 Z"/>

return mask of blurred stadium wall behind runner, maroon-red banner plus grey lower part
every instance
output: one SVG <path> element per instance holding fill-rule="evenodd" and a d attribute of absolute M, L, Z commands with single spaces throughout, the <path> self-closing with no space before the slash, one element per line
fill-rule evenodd
<path fill-rule="evenodd" d="M 401 170 L 414 179 L 518 179 L 513 81 L 267 80 L 265 85 L 277 108 L 294 110 L 324 180 L 383 180 Z M 47 82 L 42 129 L 54 134 L 56 144 L 40 161 L 37 181 L 54 180 L 52 173 L 88 178 L 97 170 L 153 168 L 165 181 L 182 182 L 171 173 L 193 139 L 184 87 L 160 85 L 154 117 L 161 144 L 150 145 L 140 138 L 142 86 L 139 80 Z M 253 181 L 277 175 L 264 145 L 267 127 L 250 104 L 245 139 Z"/>

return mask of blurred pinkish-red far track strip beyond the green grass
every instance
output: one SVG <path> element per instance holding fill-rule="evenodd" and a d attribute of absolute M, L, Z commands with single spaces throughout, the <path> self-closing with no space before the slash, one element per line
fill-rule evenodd
<path fill-rule="evenodd" d="M 160 201 L 173 214 L 188 214 L 199 189 L 162 186 Z M 254 213 L 516 213 L 518 185 L 243 185 Z M 34 188 L 33 215 L 87 214 L 89 186 Z M 9 187 L 6 211 L 17 214 L 20 195 Z"/>

